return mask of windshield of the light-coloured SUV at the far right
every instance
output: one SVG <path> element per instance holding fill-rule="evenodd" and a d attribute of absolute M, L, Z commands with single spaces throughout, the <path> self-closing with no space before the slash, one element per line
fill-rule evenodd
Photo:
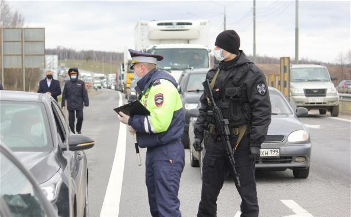
<path fill-rule="evenodd" d="M 291 81 L 330 81 L 326 68 L 292 68 Z"/>

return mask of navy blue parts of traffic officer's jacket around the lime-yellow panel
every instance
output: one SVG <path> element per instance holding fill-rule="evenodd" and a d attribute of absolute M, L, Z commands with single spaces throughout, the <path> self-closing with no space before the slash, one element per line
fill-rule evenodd
<path fill-rule="evenodd" d="M 177 88 L 178 84 L 170 74 L 154 69 L 138 81 L 135 90 L 138 91 L 139 95 L 145 94 L 146 90 L 153 85 L 156 79 L 166 79 L 170 81 L 175 88 Z M 163 94 L 167 93 L 164 92 Z M 183 108 L 173 112 L 171 124 L 165 132 L 146 132 L 144 119 L 145 116 L 135 115 L 130 117 L 128 121 L 128 125 L 137 130 L 137 140 L 140 147 L 156 147 L 167 143 L 180 141 L 180 137 L 184 132 Z M 148 127 L 150 127 L 150 124 Z"/>

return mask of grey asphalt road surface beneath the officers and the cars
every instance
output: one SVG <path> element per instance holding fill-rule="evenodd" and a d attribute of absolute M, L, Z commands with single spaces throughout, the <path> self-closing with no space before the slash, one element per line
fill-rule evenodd
<path fill-rule="evenodd" d="M 125 127 L 119 124 L 112 110 L 118 106 L 119 94 L 113 90 L 99 90 L 91 94 L 90 107 L 84 110 L 82 133 L 96 141 L 95 146 L 86 151 L 90 216 L 100 216 L 103 204 L 105 211 L 113 209 L 111 213 L 118 212 L 119 216 L 151 216 L 145 185 L 146 150 L 140 150 L 143 165 L 138 166 L 133 137 L 129 133 L 118 135 L 120 127 Z M 124 99 L 124 95 L 120 96 Z M 301 118 L 309 126 L 312 140 L 310 175 L 307 179 L 294 179 L 291 170 L 258 172 L 260 216 L 296 213 L 299 214 L 294 216 L 351 216 L 351 116 L 335 119 L 330 114 L 310 113 Z M 123 128 L 121 132 L 125 132 Z M 125 148 L 122 165 L 114 159 L 117 146 L 117 151 Z M 196 216 L 201 192 L 200 171 L 190 166 L 188 149 L 185 153 L 186 164 L 179 190 L 180 210 L 183 216 Z M 113 164 L 115 169 L 111 171 Z M 120 192 L 106 193 L 110 178 L 112 187 L 122 183 Z M 121 182 L 115 181 L 118 179 Z M 239 216 L 240 202 L 233 180 L 226 180 L 217 201 L 218 216 Z M 112 206 L 105 205 L 108 203 Z M 112 216 L 111 213 L 107 216 Z"/>

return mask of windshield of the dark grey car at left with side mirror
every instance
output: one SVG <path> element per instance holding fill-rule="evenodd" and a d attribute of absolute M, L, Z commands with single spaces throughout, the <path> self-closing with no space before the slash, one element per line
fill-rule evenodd
<path fill-rule="evenodd" d="M 49 150 L 52 140 L 44 105 L 29 102 L 0 103 L 0 139 L 11 149 Z"/>

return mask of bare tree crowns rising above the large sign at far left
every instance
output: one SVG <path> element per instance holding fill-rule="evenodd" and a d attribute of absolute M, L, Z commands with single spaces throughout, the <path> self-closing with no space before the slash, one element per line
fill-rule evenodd
<path fill-rule="evenodd" d="M 9 7 L 8 2 L 5 0 L 0 0 L 0 27 L 22 27 L 24 25 L 24 17 L 21 12 L 12 11 Z"/>

